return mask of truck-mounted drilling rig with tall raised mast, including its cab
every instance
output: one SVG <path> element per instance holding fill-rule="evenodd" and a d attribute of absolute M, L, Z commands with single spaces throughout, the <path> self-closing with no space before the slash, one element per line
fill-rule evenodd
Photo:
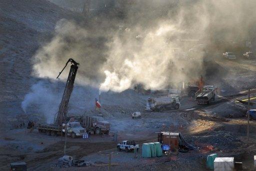
<path fill-rule="evenodd" d="M 70 70 L 69 70 L 69 74 L 66 80 L 66 85 L 65 85 L 65 89 L 63 92 L 63 96 L 61 99 L 61 102 L 59 104 L 59 108 L 58 108 L 58 112 L 57 112 L 57 116 L 54 118 L 54 124 L 46 124 L 46 125 L 41 125 L 39 124 L 37 129 L 39 132 L 43 132 L 43 133 L 47 133 L 48 135 L 52 135 L 52 136 L 56 136 L 57 134 L 61 134 L 62 133 L 62 124 L 66 124 L 66 114 L 67 114 L 67 106 L 68 106 L 68 102 L 73 90 L 73 84 L 74 84 L 74 79 L 75 79 L 75 75 L 78 69 L 78 65 L 79 63 L 75 62 L 73 59 L 69 58 L 64 66 L 64 68 L 59 72 L 57 78 L 59 77 L 59 75 L 62 73 L 62 71 L 65 69 L 65 67 L 67 66 L 68 63 L 71 63 L 70 66 Z M 74 125 L 72 127 L 72 125 Z M 72 124 L 69 124 L 70 126 L 70 130 L 73 130 L 72 133 L 75 134 L 76 136 L 80 136 L 82 133 L 84 133 L 84 129 L 80 126 L 79 122 L 75 123 L 73 122 Z M 69 131 L 70 131 L 69 130 Z M 72 135 L 72 133 L 70 133 L 70 135 Z M 75 137 L 75 136 L 73 136 Z"/>

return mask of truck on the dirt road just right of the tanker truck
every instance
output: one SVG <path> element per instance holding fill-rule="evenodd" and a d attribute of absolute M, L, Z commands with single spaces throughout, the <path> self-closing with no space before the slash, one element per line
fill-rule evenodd
<path fill-rule="evenodd" d="M 215 100 L 215 88 L 214 86 L 203 86 L 201 90 L 195 93 L 195 100 L 197 104 L 208 104 Z"/>

